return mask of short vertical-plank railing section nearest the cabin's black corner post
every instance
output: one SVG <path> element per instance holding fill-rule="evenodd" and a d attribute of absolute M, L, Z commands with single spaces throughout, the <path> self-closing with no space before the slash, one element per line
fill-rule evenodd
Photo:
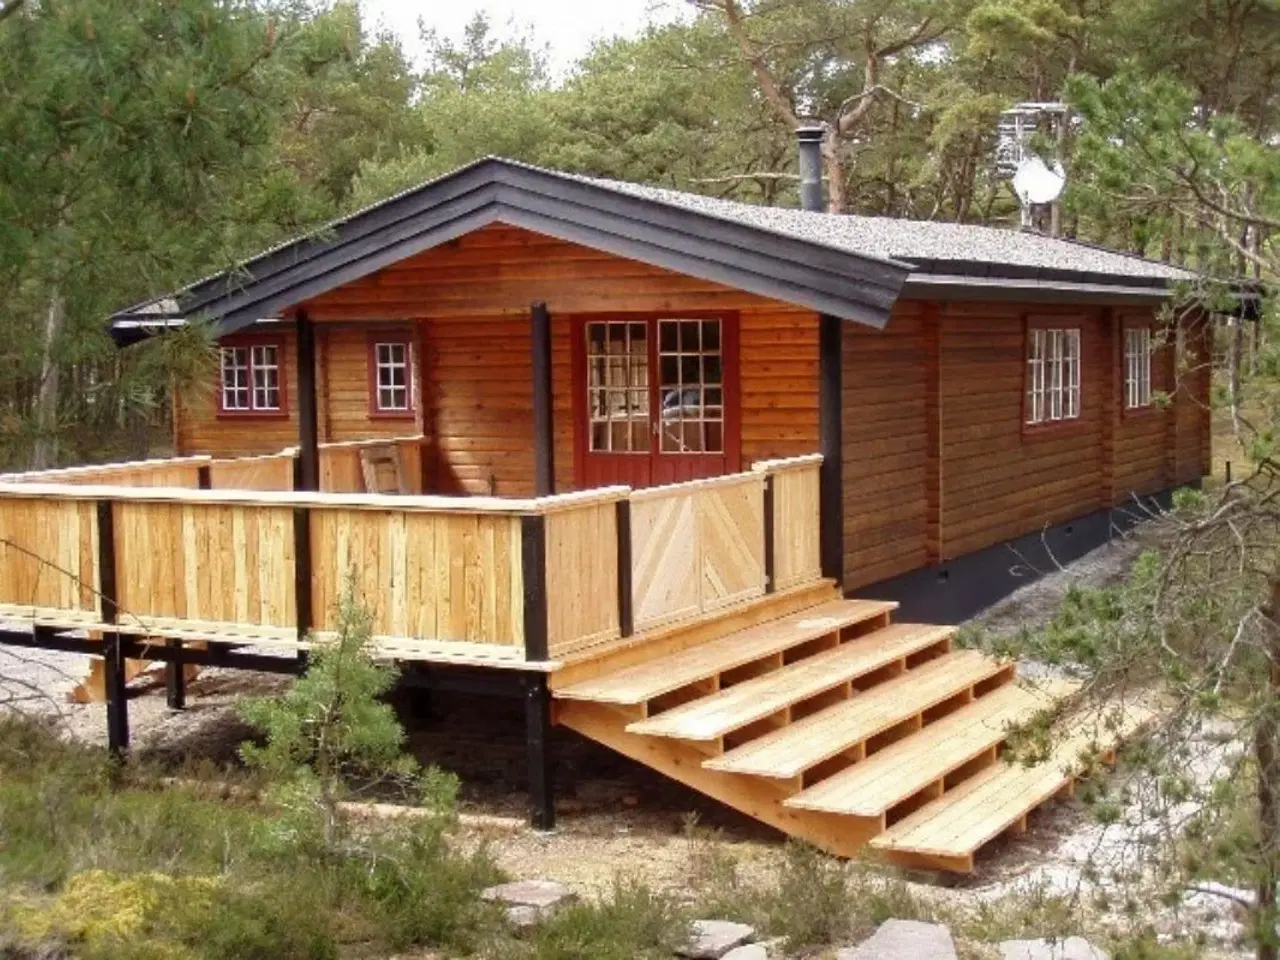
<path fill-rule="evenodd" d="M 753 471 L 767 476 L 767 526 L 772 543 L 772 590 L 786 590 L 822 577 L 822 454 L 762 461 Z"/>

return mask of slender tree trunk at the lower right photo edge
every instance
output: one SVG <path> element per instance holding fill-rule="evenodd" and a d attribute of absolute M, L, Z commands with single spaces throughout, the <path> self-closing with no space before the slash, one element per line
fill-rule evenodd
<path fill-rule="evenodd" d="M 1276 952 L 1276 882 L 1280 881 L 1280 577 L 1271 580 L 1271 604 L 1267 611 L 1266 649 L 1271 664 L 1271 689 L 1262 707 L 1262 716 L 1253 737 L 1253 755 L 1258 764 L 1258 902 L 1254 911 L 1254 933 L 1258 960 L 1277 960 Z"/>

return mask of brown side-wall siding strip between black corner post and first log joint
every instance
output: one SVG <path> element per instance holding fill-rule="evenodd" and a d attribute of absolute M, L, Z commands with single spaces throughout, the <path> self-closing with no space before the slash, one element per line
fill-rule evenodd
<path fill-rule="evenodd" d="M 928 561 L 927 365 L 919 302 L 844 337 L 845 589 Z"/>

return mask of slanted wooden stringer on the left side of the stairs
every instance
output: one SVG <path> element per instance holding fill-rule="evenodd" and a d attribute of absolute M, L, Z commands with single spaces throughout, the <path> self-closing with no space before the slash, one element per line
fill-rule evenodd
<path fill-rule="evenodd" d="M 634 713 L 585 700 L 557 700 L 554 708 L 556 723 L 828 854 L 858 856 L 884 829 L 883 817 L 787 809 L 782 801 L 799 792 L 799 786 L 705 769 L 703 750 L 678 740 L 628 733 L 626 724 L 636 718 Z"/>

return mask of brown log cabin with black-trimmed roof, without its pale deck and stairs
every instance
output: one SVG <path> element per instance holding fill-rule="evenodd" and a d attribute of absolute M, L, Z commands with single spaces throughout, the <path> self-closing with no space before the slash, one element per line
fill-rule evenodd
<path fill-rule="evenodd" d="M 954 621 L 1207 472 L 1207 324 L 1162 312 L 1183 279 L 486 159 L 114 323 L 218 324 L 179 454 L 413 433 L 413 490 L 525 497 L 822 452 L 824 572 Z"/>

